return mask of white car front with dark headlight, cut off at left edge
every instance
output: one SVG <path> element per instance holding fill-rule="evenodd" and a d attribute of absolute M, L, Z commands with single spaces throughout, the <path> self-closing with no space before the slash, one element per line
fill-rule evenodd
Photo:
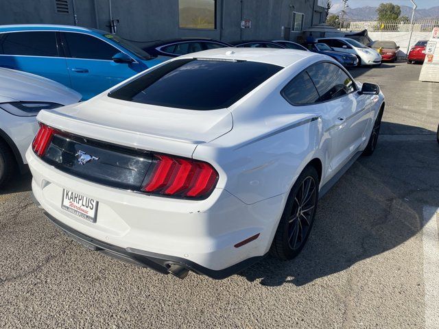
<path fill-rule="evenodd" d="M 74 90 L 45 77 L 0 68 L 0 186 L 14 169 L 28 170 L 25 152 L 32 143 L 40 110 L 80 101 Z"/>

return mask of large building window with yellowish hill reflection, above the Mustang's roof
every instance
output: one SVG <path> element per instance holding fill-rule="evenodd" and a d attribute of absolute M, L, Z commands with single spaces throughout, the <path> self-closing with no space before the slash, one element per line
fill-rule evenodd
<path fill-rule="evenodd" d="M 216 29 L 216 0 L 178 0 L 181 29 Z"/>

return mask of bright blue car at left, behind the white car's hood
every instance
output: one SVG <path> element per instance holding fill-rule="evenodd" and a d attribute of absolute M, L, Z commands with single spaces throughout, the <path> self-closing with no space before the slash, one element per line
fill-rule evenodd
<path fill-rule="evenodd" d="M 47 77 L 89 99 L 163 62 L 115 34 L 67 25 L 0 26 L 0 66 Z"/>

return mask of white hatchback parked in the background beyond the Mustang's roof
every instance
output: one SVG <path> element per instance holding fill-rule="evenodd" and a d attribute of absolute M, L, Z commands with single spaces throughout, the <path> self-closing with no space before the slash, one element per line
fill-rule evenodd
<path fill-rule="evenodd" d="M 366 47 L 351 38 L 319 38 L 317 42 L 326 43 L 335 51 L 353 53 L 358 58 L 358 65 L 379 65 L 381 55 L 375 49 Z"/>

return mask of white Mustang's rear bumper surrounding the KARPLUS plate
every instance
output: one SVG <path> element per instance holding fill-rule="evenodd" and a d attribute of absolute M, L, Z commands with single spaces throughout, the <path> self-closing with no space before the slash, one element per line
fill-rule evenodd
<path fill-rule="evenodd" d="M 26 156 L 36 202 L 56 225 L 110 256 L 161 273 L 169 264 L 211 278 L 236 273 L 268 252 L 283 211 L 284 195 L 250 205 L 221 188 L 200 201 L 154 197 L 75 178 L 30 149 Z M 63 189 L 99 202 L 95 223 L 62 209 Z"/>

